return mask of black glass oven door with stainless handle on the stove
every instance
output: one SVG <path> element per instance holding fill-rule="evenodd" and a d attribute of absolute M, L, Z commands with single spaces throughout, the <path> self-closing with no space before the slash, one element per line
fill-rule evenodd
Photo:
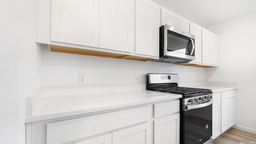
<path fill-rule="evenodd" d="M 204 144 L 212 136 L 212 99 L 183 106 L 183 144 Z"/>

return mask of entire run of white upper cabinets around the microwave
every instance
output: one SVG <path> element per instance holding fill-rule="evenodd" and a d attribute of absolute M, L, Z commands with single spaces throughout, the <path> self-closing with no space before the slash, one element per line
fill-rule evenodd
<path fill-rule="evenodd" d="M 190 66 L 218 66 L 216 34 L 199 34 L 200 26 L 151 0 L 38 0 L 36 6 L 36 42 L 54 52 L 158 59 L 159 27 L 168 24 L 196 36 Z"/>

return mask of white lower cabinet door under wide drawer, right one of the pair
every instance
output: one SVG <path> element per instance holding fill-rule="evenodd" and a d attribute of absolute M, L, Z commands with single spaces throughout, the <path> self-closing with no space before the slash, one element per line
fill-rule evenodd
<path fill-rule="evenodd" d="M 112 144 L 151 144 L 150 122 L 112 133 Z"/>

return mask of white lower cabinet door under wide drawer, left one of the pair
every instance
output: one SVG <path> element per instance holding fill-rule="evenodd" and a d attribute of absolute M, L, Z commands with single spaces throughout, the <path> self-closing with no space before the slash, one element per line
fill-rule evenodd
<path fill-rule="evenodd" d="M 106 134 L 104 136 L 99 136 L 75 144 L 112 144 L 112 134 Z"/>

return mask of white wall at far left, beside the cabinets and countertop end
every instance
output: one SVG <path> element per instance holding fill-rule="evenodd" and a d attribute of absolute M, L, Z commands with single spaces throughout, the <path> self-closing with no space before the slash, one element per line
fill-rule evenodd
<path fill-rule="evenodd" d="M 36 0 L 0 5 L 0 143 L 25 143 L 25 96 L 39 86 Z"/>

